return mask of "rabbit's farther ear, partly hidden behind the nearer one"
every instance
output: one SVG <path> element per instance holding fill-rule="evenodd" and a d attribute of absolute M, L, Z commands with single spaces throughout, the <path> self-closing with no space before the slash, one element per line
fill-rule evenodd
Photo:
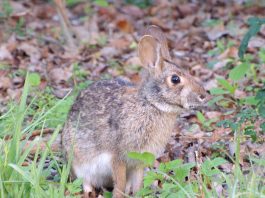
<path fill-rule="evenodd" d="M 168 49 L 167 38 L 162 32 L 161 28 L 156 25 L 150 25 L 146 30 L 144 35 L 150 35 L 156 38 L 161 44 L 161 53 L 163 58 L 171 60 L 171 56 Z"/>

